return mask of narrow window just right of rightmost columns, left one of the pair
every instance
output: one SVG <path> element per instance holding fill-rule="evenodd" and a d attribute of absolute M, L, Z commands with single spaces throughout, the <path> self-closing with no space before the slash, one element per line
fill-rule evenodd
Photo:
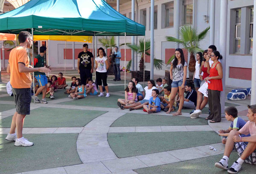
<path fill-rule="evenodd" d="M 235 11 L 236 25 L 235 25 L 235 53 L 240 54 L 240 40 L 241 40 L 241 9 Z"/>

